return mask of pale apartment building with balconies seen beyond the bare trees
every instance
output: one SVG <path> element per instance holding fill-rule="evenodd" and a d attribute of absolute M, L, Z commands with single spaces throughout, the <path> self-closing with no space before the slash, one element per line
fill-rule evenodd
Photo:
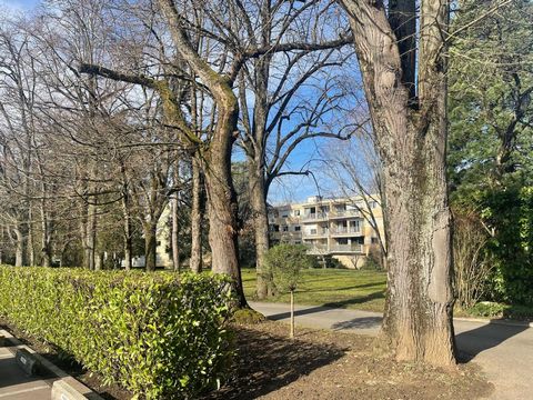
<path fill-rule="evenodd" d="M 376 196 L 372 198 L 378 199 Z M 371 214 L 384 238 L 379 201 L 365 202 L 362 197 L 323 199 L 313 196 L 302 203 L 270 208 L 271 240 L 273 243 L 302 243 L 308 246 L 310 254 L 331 256 L 346 268 L 360 268 L 370 251 L 379 248 L 376 230 L 368 221 Z"/>

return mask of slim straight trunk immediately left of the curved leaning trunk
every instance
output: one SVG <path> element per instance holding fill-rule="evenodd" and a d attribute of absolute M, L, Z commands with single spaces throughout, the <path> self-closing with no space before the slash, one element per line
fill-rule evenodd
<path fill-rule="evenodd" d="M 200 161 L 192 159 L 191 271 L 202 271 L 202 177 Z"/>

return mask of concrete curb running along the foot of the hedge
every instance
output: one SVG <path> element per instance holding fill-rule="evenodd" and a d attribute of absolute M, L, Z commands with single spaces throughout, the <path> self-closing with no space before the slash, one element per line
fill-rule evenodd
<path fill-rule="evenodd" d="M 93 392 L 83 383 L 69 376 L 61 368 L 48 361 L 44 357 L 37 353 L 32 348 L 23 344 L 19 339 L 13 337 L 8 331 L 0 329 L 0 337 L 4 337 L 7 341 L 13 344 L 14 351 L 9 349 L 9 351 L 11 351 L 13 354 L 18 350 L 23 349 L 34 357 L 44 369 L 60 378 L 52 384 L 52 400 L 103 400 L 98 393 Z"/>

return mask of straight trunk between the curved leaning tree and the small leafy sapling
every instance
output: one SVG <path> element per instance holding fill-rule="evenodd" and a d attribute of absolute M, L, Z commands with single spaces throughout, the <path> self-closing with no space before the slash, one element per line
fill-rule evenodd
<path fill-rule="evenodd" d="M 269 277 L 265 276 L 264 257 L 269 251 L 269 217 L 266 210 L 266 193 L 264 188 L 264 173 L 261 161 L 252 157 L 248 159 L 250 201 L 253 212 L 253 229 L 255 234 L 255 271 L 257 296 L 264 299 L 269 294 Z"/>

